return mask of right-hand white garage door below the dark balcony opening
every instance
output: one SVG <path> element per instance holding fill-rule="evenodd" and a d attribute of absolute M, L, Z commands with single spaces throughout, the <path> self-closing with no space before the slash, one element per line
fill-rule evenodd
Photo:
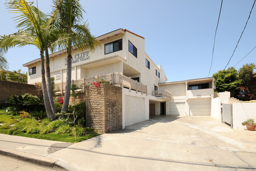
<path fill-rule="evenodd" d="M 189 102 L 189 115 L 210 115 L 210 101 L 191 101 Z"/>

